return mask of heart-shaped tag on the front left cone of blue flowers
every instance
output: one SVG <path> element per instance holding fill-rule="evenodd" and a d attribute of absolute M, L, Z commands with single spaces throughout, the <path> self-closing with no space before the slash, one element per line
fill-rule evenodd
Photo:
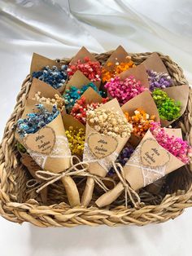
<path fill-rule="evenodd" d="M 43 127 L 35 134 L 24 137 L 24 145 L 30 151 L 49 155 L 55 145 L 55 131 L 50 127 Z"/>

